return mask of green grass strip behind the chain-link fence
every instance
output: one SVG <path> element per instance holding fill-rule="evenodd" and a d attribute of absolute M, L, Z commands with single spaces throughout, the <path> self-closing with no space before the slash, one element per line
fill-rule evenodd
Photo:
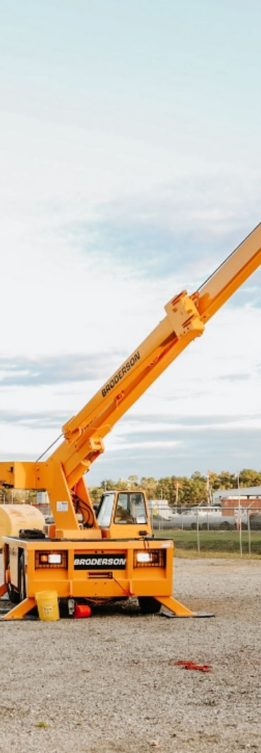
<path fill-rule="evenodd" d="M 251 531 L 249 544 L 248 531 L 242 531 L 242 554 L 238 531 L 157 531 L 155 538 L 172 538 L 176 557 L 236 557 L 261 559 L 261 532 Z"/>

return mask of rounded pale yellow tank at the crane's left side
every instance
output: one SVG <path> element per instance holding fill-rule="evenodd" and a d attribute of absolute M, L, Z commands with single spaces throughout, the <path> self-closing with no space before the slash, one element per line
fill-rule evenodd
<path fill-rule="evenodd" d="M 19 536 L 20 529 L 43 531 L 45 518 L 33 505 L 0 505 L 0 549 L 3 536 Z"/>

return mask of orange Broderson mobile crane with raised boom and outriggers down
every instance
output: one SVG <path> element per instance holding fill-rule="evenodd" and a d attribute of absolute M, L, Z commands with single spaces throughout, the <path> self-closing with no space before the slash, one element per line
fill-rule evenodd
<path fill-rule="evenodd" d="M 14 605 L 2 619 L 23 618 L 35 594 L 50 588 L 69 614 L 81 603 L 136 596 L 145 613 L 163 605 L 177 617 L 196 616 L 172 596 L 173 542 L 152 535 L 145 492 L 104 492 L 95 514 L 85 474 L 115 422 L 260 264 L 261 224 L 199 290 L 166 303 L 164 319 L 64 425 L 64 440 L 49 458 L 0 463 L 1 488 L 46 489 L 54 520 L 44 530 L 3 537 L 0 597 L 8 593 Z M 30 511 L 28 505 L 28 520 Z"/>

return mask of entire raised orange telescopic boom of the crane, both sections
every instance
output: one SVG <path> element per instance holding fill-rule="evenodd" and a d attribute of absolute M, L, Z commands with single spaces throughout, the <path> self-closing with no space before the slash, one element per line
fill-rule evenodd
<path fill-rule="evenodd" d="M 190 297 L 166 304 L 166 317 L 121 364 L 94 398 L 63 427 L 65 441 L 53 453 L 69 486 L 104 451 L 102 440 L 161 373 L 202 334 L 205 322 L 261 264 L 261 224 Z M 84 470 L 83 470 L 84 469 Z"/>

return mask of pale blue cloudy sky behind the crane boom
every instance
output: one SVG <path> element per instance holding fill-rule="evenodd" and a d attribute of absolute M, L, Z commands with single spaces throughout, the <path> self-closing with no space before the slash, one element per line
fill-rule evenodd
<path fill-rule="evenodd" d="M 0 460 L 42 455 L 260 223 L 260 27 L 258 0 L 0 0 Z M 89 486 L 261 471 L 260 327 L 261 268 Z"/>

